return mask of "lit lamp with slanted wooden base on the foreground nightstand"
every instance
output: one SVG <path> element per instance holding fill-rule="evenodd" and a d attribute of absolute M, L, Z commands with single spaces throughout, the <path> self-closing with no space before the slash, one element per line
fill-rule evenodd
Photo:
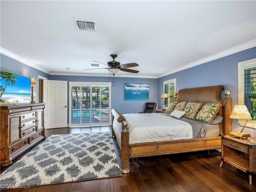
<path fill-rule="evenodd" d="M 246 120 L 244 123 L 244 126 L 245 126 L 247 121 L 252 119 L 251 114 L 252 114 L 252 110 L 249 113 L 246 105 L 235 105 L 230 115 L 230 118 L 238 119 L 238 120 Z M 240 139 L 242 139 L 242 137 L 246 137 L 246 138 L 250 137 L 251 135 L 249 133 L 243 133 L 244 126 L 240 132 L 232 131 L 230 132 L 230 134 L 233 135 L 233 137 L 238 137 Z"/>

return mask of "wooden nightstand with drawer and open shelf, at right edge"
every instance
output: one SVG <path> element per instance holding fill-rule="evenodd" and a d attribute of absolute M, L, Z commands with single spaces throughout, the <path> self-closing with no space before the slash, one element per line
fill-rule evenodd
<path fill-rule="evenodd" d="M 222 135 L 220 167 L 226 162 L 249 175 L 252 184 L 252 175 L 256 173 L 256 138 L 238 139 Z"/>

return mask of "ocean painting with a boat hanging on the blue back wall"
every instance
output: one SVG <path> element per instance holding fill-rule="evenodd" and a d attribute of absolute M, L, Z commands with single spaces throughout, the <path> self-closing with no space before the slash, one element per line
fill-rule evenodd
<path fill-rule="evenodd" d="M 149 84 L 124 84 L 124 100 L 139 101 L 148 100 L 149 98 Z"/>

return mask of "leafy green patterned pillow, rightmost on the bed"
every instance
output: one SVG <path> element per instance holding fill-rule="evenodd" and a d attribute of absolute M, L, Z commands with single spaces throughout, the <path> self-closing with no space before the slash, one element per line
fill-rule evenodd
<path fill-rule="evenodd" d="M 196 120 L 204 121 L 208 124 L 212 124 L 213 119 L 217 115 L 222 106 L 221 102 L 218 103 L 205 103 L 198 114 L 196 115 Z"/>

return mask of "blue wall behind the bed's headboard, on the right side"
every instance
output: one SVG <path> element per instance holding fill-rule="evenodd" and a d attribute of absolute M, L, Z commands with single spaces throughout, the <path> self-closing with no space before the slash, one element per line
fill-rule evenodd
<path fill-rule="evenodd" d="M 158 92 L 163 92 L 163 83 L 165 80 L 176 78 L 177 92 L 179 89 L 223 85 L 224 90 L 231 90 L 232 106 L 238 104 L 238 63 L 256 58 L 256 47 L 216 59 L 179 71 L 161 78 L 158 78 Z M 225 97 L 222 92 L 222 98 Z M 162 103 L 162 98 L 158 97 L 158 105 Z M 237 120 L 232 120 L 233 131 L 240 131 L 240 125 Z M 246 128 L 252 137 L 256 137 L 256 129 Z"/>

